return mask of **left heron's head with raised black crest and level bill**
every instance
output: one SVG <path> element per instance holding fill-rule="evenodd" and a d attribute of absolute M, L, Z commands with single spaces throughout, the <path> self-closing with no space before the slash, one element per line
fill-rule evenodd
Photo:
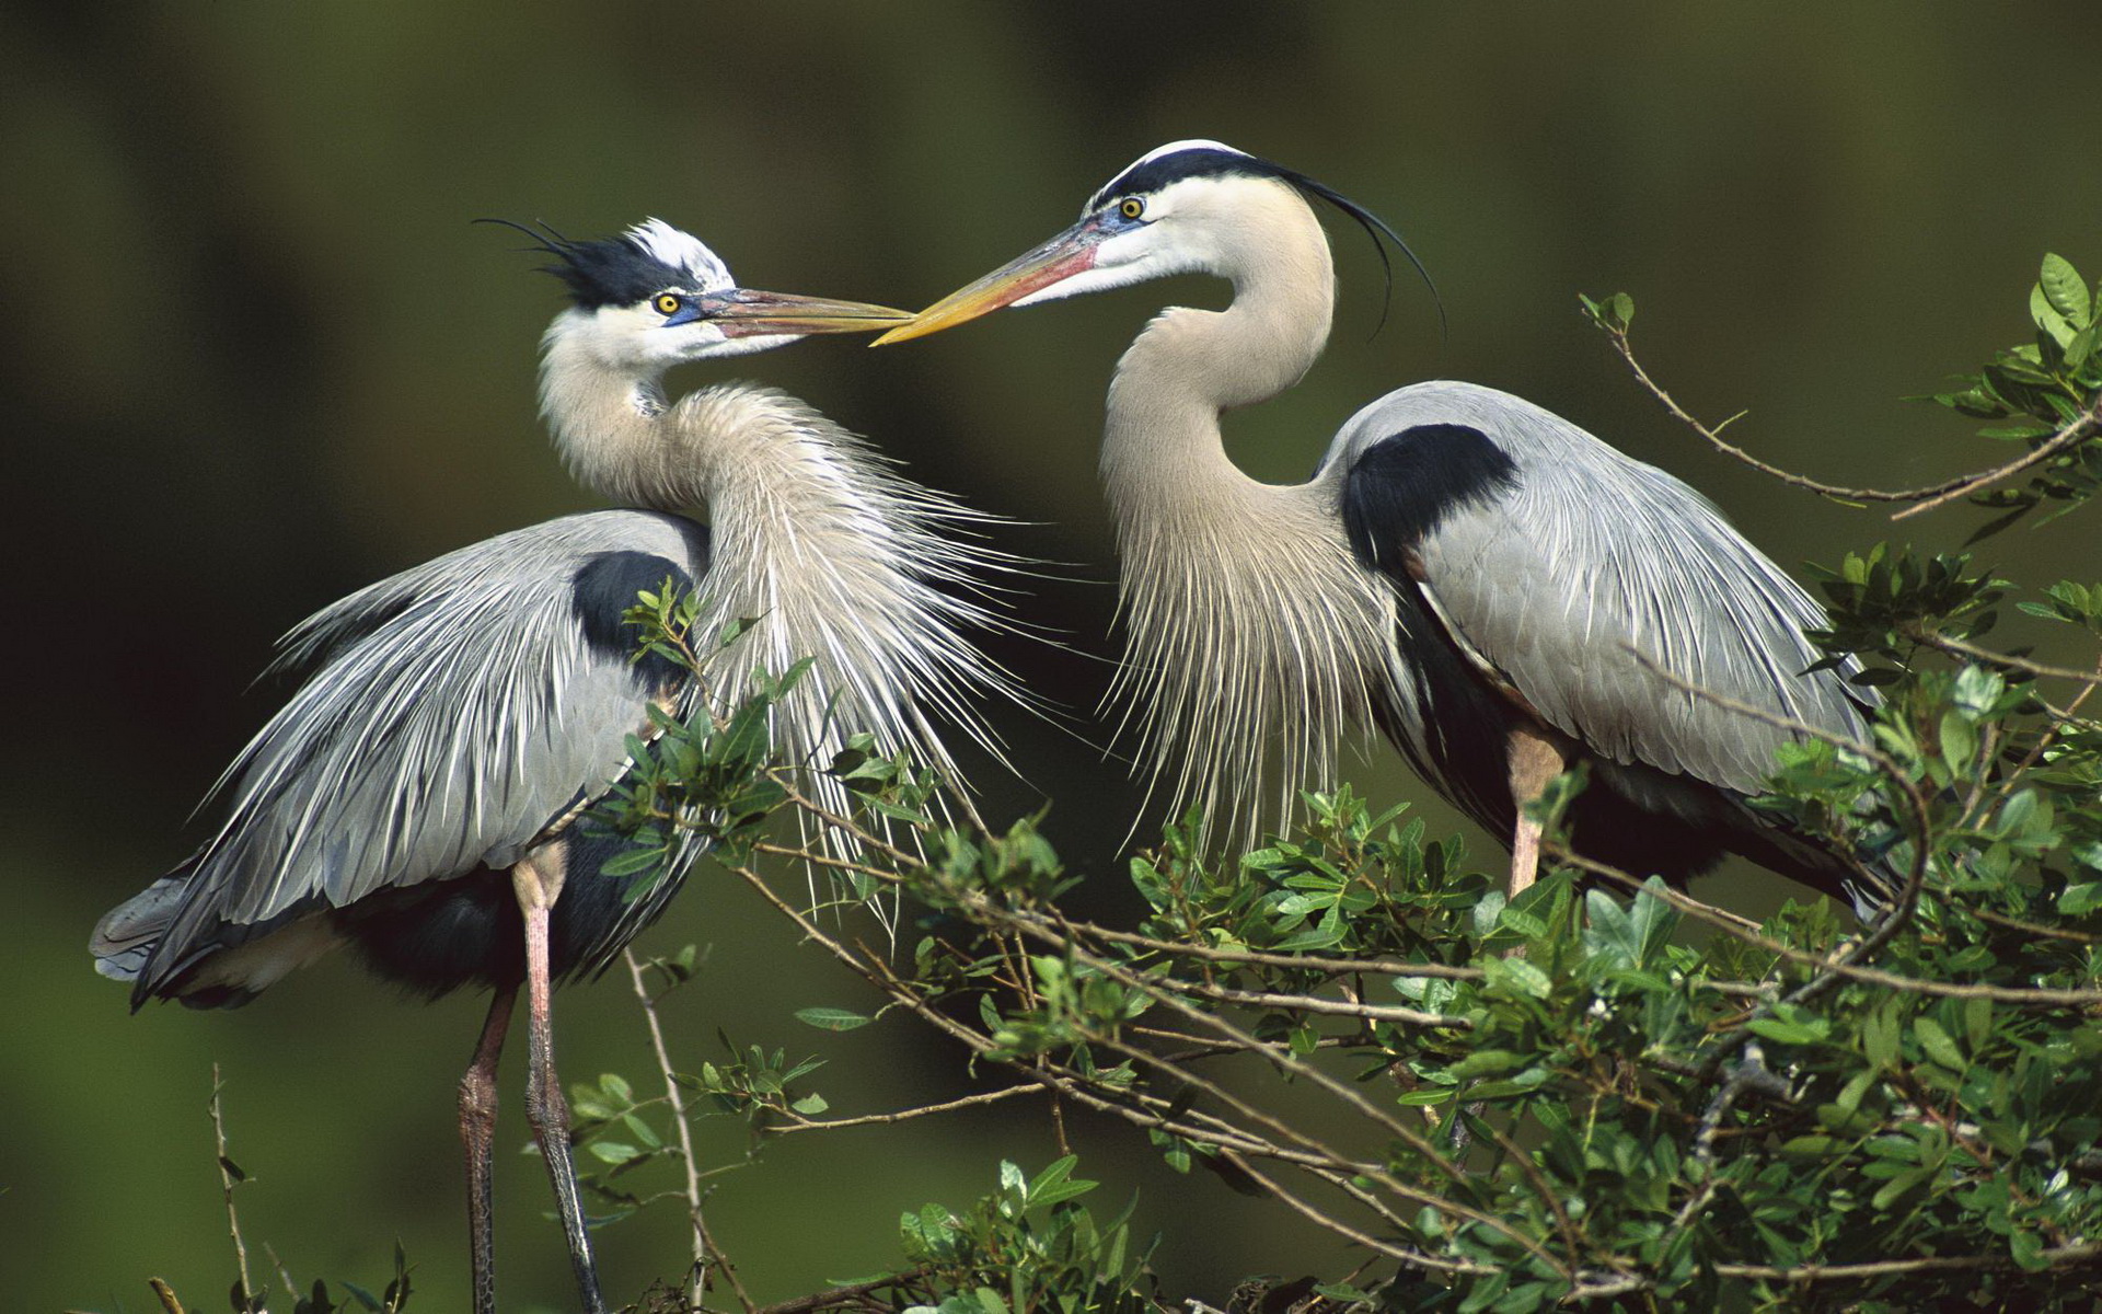
<path fill-rule="evenodd" d="M 620 372 L 660 374 L 689 360 L 767 351 L 813 332 L 872 332 L 910 320 L 906 311 L 860 301 L 740 288 L 700 238 L 662 219 L 601 242 L 519 231 L 555 256 L 547 271 L 570 288 L 574 303 L 549 326 L 547 345 L 582 349 Z"/>

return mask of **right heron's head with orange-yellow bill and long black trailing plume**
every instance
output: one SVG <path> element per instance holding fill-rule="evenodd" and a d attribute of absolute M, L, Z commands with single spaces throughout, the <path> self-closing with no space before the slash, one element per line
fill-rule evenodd
<path fill-rule="evenodd" d="M 1263 248 L 1280 231 L 1312 223 L 1305 198 L 1339 206 L 1375 238 L 1385 233 L 1408 252 L 1371 210 L 1301 172 L 1219 141 L 1171 141 L 1095 191 L 1070 229 L 950 292 L 877 345 L 954 328 L 1007 305 L 1106 292 L 1171 273 L 1238 278 L 1268 254 Z M 1318 242 L 1318 225 L 1312 231 Z"/>

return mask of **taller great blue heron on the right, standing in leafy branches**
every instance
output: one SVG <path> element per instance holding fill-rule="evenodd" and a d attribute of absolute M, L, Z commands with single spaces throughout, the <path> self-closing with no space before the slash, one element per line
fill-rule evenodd
<path fill-rule="evenodd" d="M 1331 776 L 1347 727 L 1377 723 L 1509 837 L 1513 896 L 1541 839 L 1520 805 L 1589 761 L 1570 824 L 1602 862 L 1684 879 L 1738 851 L 1862 910 L 1883 898 L 1879 877 L 1745 805 L 1791 732 L 1644 664 L 1862 732 L 1852 669 L 1808 671 L 1816 603 L 1686 484 L 1465 383 L 1373 402 L 1307 484 L 1234 467 L 1219 412 L 1297 383 L 1328 338 L 1335 269 L 1310 196 L 1375 242 L 1394 235 L 1305 174 L 1177 141 L 1118 172 L 1064 233 L 877 338 L 1171 273 L 1234 284 L 1223 311 L 1154 317 L 1110 383 L 1101 475 L 1129 629 L 1114 694 L 1156 778 L 1215 812 L 1280 740 L 1289 805 Z"/>

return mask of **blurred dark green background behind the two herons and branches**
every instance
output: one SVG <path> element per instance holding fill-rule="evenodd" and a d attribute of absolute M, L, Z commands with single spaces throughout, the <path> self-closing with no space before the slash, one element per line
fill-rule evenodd
<path fill-rule="evenodd" d="M 1335 229 L 1337 343 L 1286 399 L 1236 414 L 1249 471 L 1297 479 L 1360 404 L 1406 381 L 1513 389 L 1713 494 L 1776 559 L 1890 536 L 1875 511 L 1782 490 L 1703 450 L 1629 383 L 1574 294 L 1629 290 L 1652 372 L 1736 439 L 1843 484 L 1909 486 L 2001 456 L 1900 397 L 2026 332 L 2043 250 L 2102 273 L 2087 0 L 1984 6 L 1516 4 L 126 4 L 0 8 L 0 431 L 6 650 L 17 698 L 0 807 L 13 940 L 0 957 L 0 1306 L 195 1308 L 231 1278 L 204 1118 L 227 1072 L 244 1221 L 301 1278 L 385 1282 L 395 1236 L 418 1308 L 465 1303 L 452 1083 L 479 999 L 416 1007 L 328 963 L 238 1013 L 151 1009 L 88 969 L 95 917 L 200 837 L 187 807 L 282 690 L 271 639 L 439 551 L 591 507 L 534 418 L 534 345 L 559 296 L 475 217 L 570 233 L 660 214 L 753 286 L 923 305 L 1064 227 L 1112 170 L 1217 137 L 1324 179 L 1408 233 L 1450 311 Z M 1003 645 L 1089 709 L 1108 669 L 1110 542 L 1093 479 L 1116 353 L 1196 280 L 996 315 L 881 353 L 811 343 L 738 362 L 872 435 L 975 507 L 1036 521 L 1001 545 L 1066 561 L 1024 601 L 1076 652 Z M 727 374 L 721 370 L 717 374 Z M 694 370 L 675 378 L 704 383 Z M 1898 536 L 1955 547 L 1951 509 Z M 2091 519 L 2091 517 L 2089 517 Z M 1984 557 L 2094 578 L 2079 519 Z M 1137 807 L 1118 763 L 1007 717 L 1049 830 L 1129 915 L 1110 862 Z M 1099 738 L 1099 734 L 1097 734 Z M 1387 753 L 1360 778 L 1425 797 Z M 1455 824 L 1436 803 L 1438 826 Z M 1476 841 L 1486 847 L 1484 841 Z M 1709 896 L 1736 896 L 1717 877 Z M 969 1089 L 902 1020 L 851 1036 L 799 1007 L 866 994 L 721 877 L 645 948 L 710 946 L 675 1053 L 824 1051 L 839 1112 Z M 622 982 L 559 1001 L 572 1076 L 645 1068 Z M 513 1053 L 513 1064 L 517 1051 Z M 507 1068 L 507 1146 L 523 1142 Z M 1038 1106 L 790 1137 L 729 1173 L 715 1228 L 763 1299 L 895 1257 L 895 1217 L 967 1205 L 1001 1156 L 1038 1167 Z M 1255 1270 L 1335 1274 L 1339 1247 L 1122 1127 L 1085 1167 L 1141 1232 L 1173 1234 L 1173 1295 L 1223 1303 Z M 710 1163 L 742 1154 L 704 1123 Z M 559 1234 L 528 1158 L 500 1161 L 509 1308 L 565 1308 Z M 1106 1200 L 1110 1203 L 1110 1200 Z M 681 1221 L 603 1234 L 612 1293 L 681 1266 Z M 259 1259 L 261 1261 L 261 1259 Z"/>

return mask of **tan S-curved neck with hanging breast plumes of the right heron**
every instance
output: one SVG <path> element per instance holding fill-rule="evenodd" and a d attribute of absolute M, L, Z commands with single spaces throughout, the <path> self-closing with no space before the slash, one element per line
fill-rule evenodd
<path fill-rule="evenodd" d="M 1215 833 L 1253 837 L 1299 788 L 1333 784 L 1337 742 L 1368 725 L 1394 601 L 1352 559 L 1333 488 L 1259 484 L 1225 456 L 1219 412 L 1297 383 L 1335 305 L 1326 238 L 1297 193 L 1263 185 L 1234 217 L 1211 265 L 1234 303 L 1169 309 L 1131 345 L 1101 475 L 1127 629 L 1110 698 L 1177 812 L 1198 803 Z"/>

